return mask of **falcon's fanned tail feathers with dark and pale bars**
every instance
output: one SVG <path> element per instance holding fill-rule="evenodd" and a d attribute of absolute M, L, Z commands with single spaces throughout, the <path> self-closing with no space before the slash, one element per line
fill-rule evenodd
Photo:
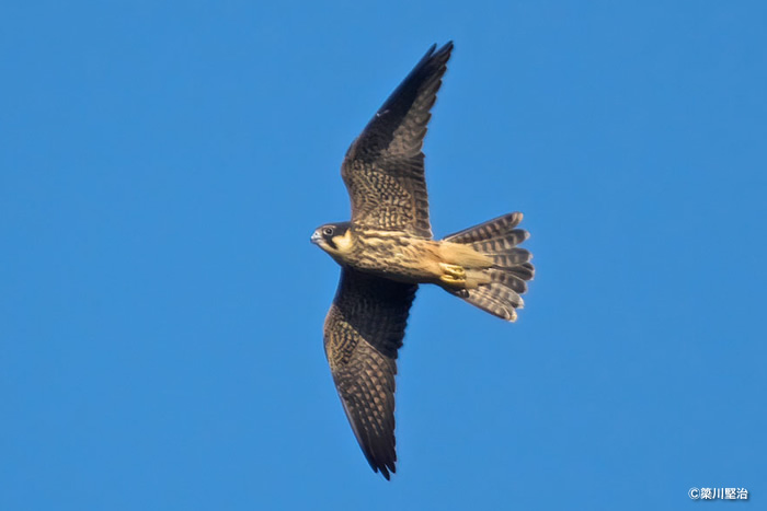
<path fill-rule="evenodd" d="M 508 213 L 444 239 L 469 245 L 494 263 L 482 270 L 490 277 L 489 283 L 480 284 L 477 289 L 448 291 L 511 322 L 517 318 L 516 309 L 524 306 L 522 294 L 527 291 L 527 281 L 535 275 L 530 263 L 533 255 L 517 246 L 529 236 L 524 229 L 516 229 L 520 221 L 520 212 Z"/>

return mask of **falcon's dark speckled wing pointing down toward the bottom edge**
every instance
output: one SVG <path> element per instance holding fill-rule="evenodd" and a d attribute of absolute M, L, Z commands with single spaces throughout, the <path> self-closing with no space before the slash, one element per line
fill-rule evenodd
<path fill-rule="evenodd" d="M 387 479 L 394 462 L 394 374 L 416 284 L 341 272 L 324 325 L 335 387 L 357 442 Z"/>

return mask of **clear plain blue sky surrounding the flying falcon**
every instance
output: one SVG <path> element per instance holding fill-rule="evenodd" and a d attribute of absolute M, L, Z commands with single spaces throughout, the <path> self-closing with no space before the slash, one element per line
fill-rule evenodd
<path fill-rule="evenodd" d="M 767 509 L 765 26 L 763 1 L 4 2 L 0 509 Z M 524 211 L 537 275 L 513 325 L 420 291 L 387 483 L 309 236 L 449 39 L 435 234 Z"/>

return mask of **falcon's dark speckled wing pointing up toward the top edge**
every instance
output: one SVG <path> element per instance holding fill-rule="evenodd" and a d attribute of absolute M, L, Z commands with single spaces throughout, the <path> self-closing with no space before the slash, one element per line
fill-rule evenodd
<path fill-rule="evenodd" d="M 348 148 L 341 176 L 352 222 L 432 237 L 421 147 L 451 50 L 432 46 Z"/>

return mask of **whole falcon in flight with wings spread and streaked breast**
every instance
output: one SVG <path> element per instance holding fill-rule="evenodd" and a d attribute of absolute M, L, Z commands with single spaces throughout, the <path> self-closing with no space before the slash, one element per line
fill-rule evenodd
<path fill-rule="evenodd" d="M 367 124 L 341 176 L 352 220 L 318 228 L 311 242 L 341 265 L 324 323 L 324 349 L 341 403 L 374 472 L 394 463 L 394 374 L 410 305 L 432 283 L 513 322 L 534 275 L 513 212 L 434 240 L 421 151 L 453 43 L 432 46 Z"/>

